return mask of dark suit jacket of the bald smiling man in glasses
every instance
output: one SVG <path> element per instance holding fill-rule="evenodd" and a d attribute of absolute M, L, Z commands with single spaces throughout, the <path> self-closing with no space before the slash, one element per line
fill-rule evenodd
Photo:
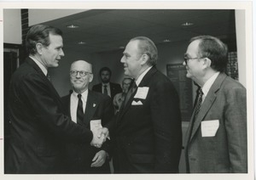
<path fill-rule="evenodd" d="M 61 98 L 65 114 L 70 116 L 70 94 Z M 89 90 L 84 113 L 84 127 L 90 129 L 91 120 L 102 120 L 102 126 L 110 121 L 113 116 L 111 98 Z M 110 155 L 110 142 L 103 143 L 102 148 Z M 90 167 L 93 157 L 98 151 L 90 144 L 67 143 L 64 148 L 64 163 L 66 173 L 110 173 L 108 160 L 101 167 Z"/>

